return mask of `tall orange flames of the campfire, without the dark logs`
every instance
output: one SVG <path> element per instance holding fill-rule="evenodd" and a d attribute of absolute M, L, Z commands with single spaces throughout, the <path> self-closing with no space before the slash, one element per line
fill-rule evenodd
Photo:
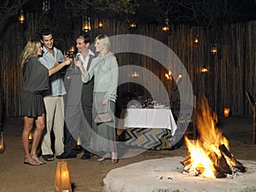
<path fill-rule="evenodd" d="M 195 123 L 199 137 L 196 141 L 190 141 L 188 137 L 185 137 L 192 165 L 189 171 L 200 172 L 201 176 L 204 177 L 214 177 L 213 165 L 216 165 L 222 156 L 219 146 L 224 144 L 226 148 L 230 149 L 229 141 L 216 126 L 218 119 L 214 114 L 208 106 L 207 98 L 203 97 L 195 112 Z M 227 163 L 232 164 L 229 160 Z"/>

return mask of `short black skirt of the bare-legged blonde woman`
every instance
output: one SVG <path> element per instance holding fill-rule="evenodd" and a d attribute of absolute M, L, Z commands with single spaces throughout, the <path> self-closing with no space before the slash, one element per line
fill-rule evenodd
<path fill-rule="evenodd" d="M 21 91 L 19 115 L 37 118 L 45 113 L 44 99 L 41 93 Z"/>

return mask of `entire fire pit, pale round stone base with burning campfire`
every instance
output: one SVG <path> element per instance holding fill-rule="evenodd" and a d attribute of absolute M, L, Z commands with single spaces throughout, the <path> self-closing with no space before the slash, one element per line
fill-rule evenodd
<path fill-rule="evenodd" d="M 188 156 L 145 160 L 120 167 L 104 178 L 106 192 L 255 192 L 256 161 L 236 160 L 218 130 L 207 99 L 197 107 L 196 140 L 185 137 Z"/>

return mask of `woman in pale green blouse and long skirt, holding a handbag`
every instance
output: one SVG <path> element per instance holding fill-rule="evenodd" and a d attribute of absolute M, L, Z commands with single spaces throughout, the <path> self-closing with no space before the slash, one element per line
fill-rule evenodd
<path fill-rule="evenodd" d="M 84 83 L 87 83 L 94 77 L 92 107 L 92 129 L 94 132 L 92 133 L 90 148 L 96 153 L 105 152 L 98 161 L 106 160 L 111 157 L 111 163 L 115 164 L 118 162 L 114 121 L 119 77 L 118 63 L 116 57 L 109 52 L 110 43 L 108 36 L 97 36 L 95 47 L 99 55 L 91 61 L 88 72 L 84 71 L 81 63 L 77 64 L 81 70 L 82 81 Z M 96 118 L 96 114 L 101 113 L 102 110 L 109 110 L 113 120 L 107 123 L 95 123 L 94 119 Z"/>

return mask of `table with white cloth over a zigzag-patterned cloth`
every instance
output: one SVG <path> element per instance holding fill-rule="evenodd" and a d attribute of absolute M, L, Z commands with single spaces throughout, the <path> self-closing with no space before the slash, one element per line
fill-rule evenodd
<path fill-rule="evenodd" d="M 142 148 L 172 148 L 177 125 L 170 108 L 127 108 L 122 123 L 125 143 Z"/>

